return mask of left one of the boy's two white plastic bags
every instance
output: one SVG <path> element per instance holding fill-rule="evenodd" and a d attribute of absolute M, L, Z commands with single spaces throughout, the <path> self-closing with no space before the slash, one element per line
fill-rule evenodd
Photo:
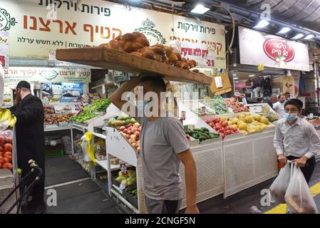
<path fill-rule="evenodd" d="M 286 195 L 287 188 L 290 182 L 290 165 L 289 162 L 285 165 L 279 172 L 278 177 L 269 188 L 269 196 L 271 202 L 277 202 L 279 204 L 284 204 L 284 195 Z"/>

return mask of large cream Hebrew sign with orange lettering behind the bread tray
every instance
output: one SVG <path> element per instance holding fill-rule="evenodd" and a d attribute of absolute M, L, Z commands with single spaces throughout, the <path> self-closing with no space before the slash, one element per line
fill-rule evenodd
<path fill-rule="evenodd" d="M 209 45 L 215 68 L 226 68 L 220 24 L 100 0 L 1 0 L 0 16 L 1 11 L 11 21 L 0 26 L 10 32 L 11 57 L 48 58 L 57 48 L 98 46 L 138 31 L 152 45 L 169 45 L 171 40 Z"/>

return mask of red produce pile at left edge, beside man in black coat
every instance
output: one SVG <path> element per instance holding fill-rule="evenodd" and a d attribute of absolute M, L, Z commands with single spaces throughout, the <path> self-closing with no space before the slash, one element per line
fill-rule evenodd
<path fill-rule="evenodd" d="M 0 169 L 13 169 L 12 165 L 12 130 L 0 133 Z"/>

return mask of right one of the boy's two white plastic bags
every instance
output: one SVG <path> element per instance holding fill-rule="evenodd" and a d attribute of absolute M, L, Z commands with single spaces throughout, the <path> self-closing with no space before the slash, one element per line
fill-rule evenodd
<path fill-rule="evenodd" d="M 318 214 L 316 203 L 303 173 L 296 165 L 292 166 L 294 166 L 293 175 L 284 197 L 289 212 L 294 214 Z"/>

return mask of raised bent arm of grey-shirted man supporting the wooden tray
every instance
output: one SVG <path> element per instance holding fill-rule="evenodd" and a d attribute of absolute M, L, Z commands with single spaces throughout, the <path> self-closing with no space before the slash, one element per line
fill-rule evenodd
<path fill-rule="evenodd" d="M 120 86 L 120 88 L 118 88 L 118 90 L 116 90 L 112 95 L 110 95 L 110 101 L 113 103 L 113 105 L 115 105 L 117 108 L 122 110 L 123 105 L 128 102 L 127 100 L 121 99 L 123 93 L 128 93 L 131 90 L 133 90 L 133 88 L 135 88 L 135 86 L 138 86 L 138 84 L 141 81 L 141 78 L 143 78 L 143 77 L 136 76 L 136 77 L 131 78 L 130 81 L 123 83 L 123 85 Z M 128 112 L 126 110 L 123 110 L 123 112 L 128 114 Z"/>

